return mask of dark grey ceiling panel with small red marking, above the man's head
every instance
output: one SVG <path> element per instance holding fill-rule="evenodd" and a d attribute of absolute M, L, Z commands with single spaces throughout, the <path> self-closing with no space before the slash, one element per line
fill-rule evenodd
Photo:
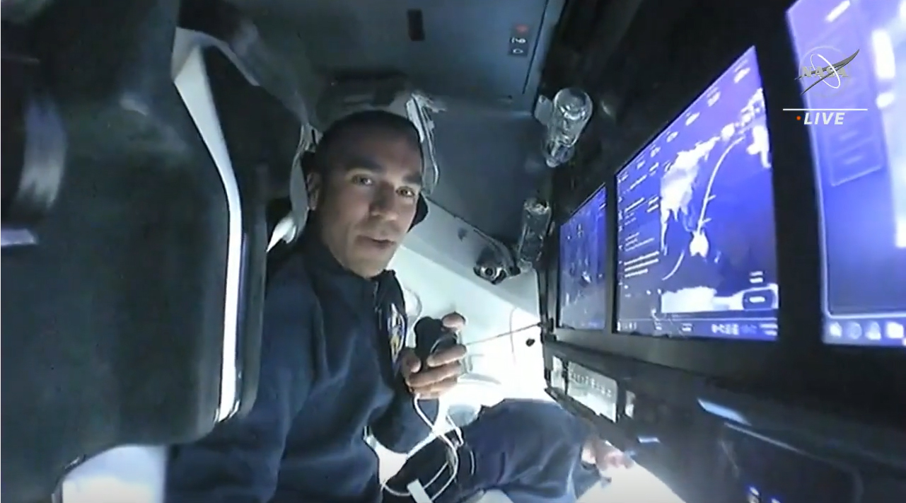
<path fill-rule="evenodd" d="M 392 68 L 431 93 L 528 110 L 545 55 L 535 57 L 536 48 L 545 48 L 564 0 L 233 3 L 294 24 L 319 70 Z M 525 44 L 511 44 L 514 37 Z"/>

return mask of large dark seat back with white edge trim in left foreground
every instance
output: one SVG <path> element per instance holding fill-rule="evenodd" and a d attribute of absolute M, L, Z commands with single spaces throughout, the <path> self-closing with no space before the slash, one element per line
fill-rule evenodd
<path fill-rule="evenodd" d="M 34 244 L 3 248 L 5 501 L 254 400 L 265 177 L 231 160 L 200 49 L 174 86 L 177 19 L 176 0 L 73 0 L 31 27 L 68 150 Z"/>

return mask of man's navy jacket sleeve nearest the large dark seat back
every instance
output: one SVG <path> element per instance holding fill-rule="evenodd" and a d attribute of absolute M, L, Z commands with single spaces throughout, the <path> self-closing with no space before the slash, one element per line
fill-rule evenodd
<path fill-rule="evenodd" d="M 286 264 L 265 297 L 261 374 L 252 410 L 173 450 L 167 503 L 264 503 L 273 497 L 286 436 L 313 380 L 315 310 L 304 272 Z"/>

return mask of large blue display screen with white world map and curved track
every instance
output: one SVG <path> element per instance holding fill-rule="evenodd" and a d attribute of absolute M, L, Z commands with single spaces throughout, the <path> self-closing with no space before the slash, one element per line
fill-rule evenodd
<path fill-rule="evenodd" d="M 755 48 L 617 174 L 617 329 L 776 338 L 771 152 Z"/>

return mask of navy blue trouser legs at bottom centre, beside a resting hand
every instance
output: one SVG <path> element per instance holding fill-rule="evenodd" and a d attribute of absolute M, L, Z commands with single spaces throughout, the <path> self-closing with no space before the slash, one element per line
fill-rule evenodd
<path fill-rule="evenodd" d="M 463 503 L 489 489 L 503 491 L 513 503 L 575 503 L 602 480 L 582 461 L 591 427 L 553 401 L 501 401 L 482 409 L 461 432 L 453 483 L 448 446 L 432 440 L 388 481 L 384 503 L 412 503 L 392 493 L 408 492 L 416 479 L 434 503 Z"/>

